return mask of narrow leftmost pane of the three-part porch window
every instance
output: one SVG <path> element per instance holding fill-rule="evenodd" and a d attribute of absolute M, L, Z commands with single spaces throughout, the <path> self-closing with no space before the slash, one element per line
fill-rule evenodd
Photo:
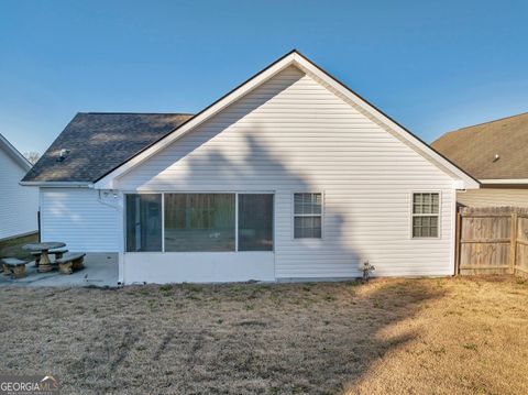
<path fill-rule="evenodd" d="M 127 195 L 127 251 L 162 251 L 162 195 Z"/>

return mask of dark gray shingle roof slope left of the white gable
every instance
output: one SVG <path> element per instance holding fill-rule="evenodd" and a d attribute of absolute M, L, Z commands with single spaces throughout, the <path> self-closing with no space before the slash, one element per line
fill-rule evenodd
<path fill-rule="evenodd" d="M 178 128 L 191 114 L 79 112 L 23 183 L 92 183 Z M 67 150 L 59 162 L 61 151 Z"/>

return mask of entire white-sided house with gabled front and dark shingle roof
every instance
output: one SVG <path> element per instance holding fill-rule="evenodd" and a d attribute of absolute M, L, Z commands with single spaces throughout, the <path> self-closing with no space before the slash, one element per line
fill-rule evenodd
<path fill-rule="evenodd" d="M 479 188 L 297 51 L 195 116 L 79 113 L 23 184 L 124 284 L 451 275 Z"/>

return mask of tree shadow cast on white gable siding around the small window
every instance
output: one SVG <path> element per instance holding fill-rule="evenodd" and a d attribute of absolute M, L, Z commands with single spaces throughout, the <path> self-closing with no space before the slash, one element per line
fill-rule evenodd
<path fill-rule="evenodd" d="M 323 193 L 324 185 L 310 180 L 309 174 L 287 165 L 258 139 L 261 129 L 237 131 L 237 147 L 208 146 L 190 154 L 184 162 L 185 173 L 173 182 L 182 191 L 263 191 L 275 194 L 275 267 L 276 276 L 296 277 L 358 277 L 362 274 L 360 252 L 344 242 L 343 226 L 346 213 L 329 201 L 323 204 L 323 239 L 294 238 L 295 193 Z M 350 222 L 350 221 L 349 221 Z M 289 267 L 289 268 L 288 268 Z"/>

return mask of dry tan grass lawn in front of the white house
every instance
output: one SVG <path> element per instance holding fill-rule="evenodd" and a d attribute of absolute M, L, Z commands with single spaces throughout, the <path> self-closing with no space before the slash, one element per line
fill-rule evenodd
<path fill-rule="evenodd" d="M 528 282 L 2 288 L 0 372 L 75 394 L 528 393 Z"/>

